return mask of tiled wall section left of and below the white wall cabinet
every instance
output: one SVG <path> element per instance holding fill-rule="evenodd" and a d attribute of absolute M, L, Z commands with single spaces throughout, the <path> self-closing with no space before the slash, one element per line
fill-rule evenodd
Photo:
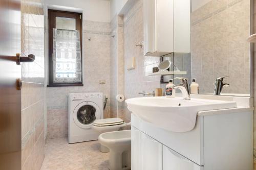
<path fill-rule="evenodd" d="M 124 93 L 126 99 L 141 96 L 139 92 L 145 90 L 152 92 L 160 88 L 159 76 L 147 76 L 157 67 L 160 57 L 144 57 L 143 48 L 136 47 L 136 44 L 143 41 L 143 1 L 139 0 L 124 15 L 124 63 L 128 63 L 132 57 L 136 59 L 136 68 L 127 70 L 124 66 Z"/>

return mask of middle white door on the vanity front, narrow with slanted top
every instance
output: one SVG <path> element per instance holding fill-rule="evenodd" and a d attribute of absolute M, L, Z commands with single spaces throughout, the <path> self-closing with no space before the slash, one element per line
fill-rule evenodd
<path fill-rule="evenodd" d="M 141 169 L 162 170 L 162 144 L 144 133 L 141 133 Z"/>

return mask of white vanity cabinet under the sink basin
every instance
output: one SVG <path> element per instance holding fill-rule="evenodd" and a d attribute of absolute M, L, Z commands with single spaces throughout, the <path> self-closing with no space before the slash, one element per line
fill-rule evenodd
<path fill-rule="evenodd" d="M 252 119 L 248 108 L 201 111 L 195 128 L 179 133 L 132 114 L 140 134 L 132 136 L 133 170 L 252 170 Z"/>

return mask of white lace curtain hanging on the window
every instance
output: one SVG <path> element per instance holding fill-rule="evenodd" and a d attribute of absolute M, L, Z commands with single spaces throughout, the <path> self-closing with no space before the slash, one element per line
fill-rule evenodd
<path fill-rule="evenodd" d="M 79 31 L 53 29 L 53 82 L 82 82 Z"/>

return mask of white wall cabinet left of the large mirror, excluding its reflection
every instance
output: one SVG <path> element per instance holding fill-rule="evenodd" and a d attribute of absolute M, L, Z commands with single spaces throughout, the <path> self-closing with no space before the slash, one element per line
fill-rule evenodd
<path fill-rule="evenodd" d="M 144 0 L 144 56 L 174 52 L 173 0 Z"/>

